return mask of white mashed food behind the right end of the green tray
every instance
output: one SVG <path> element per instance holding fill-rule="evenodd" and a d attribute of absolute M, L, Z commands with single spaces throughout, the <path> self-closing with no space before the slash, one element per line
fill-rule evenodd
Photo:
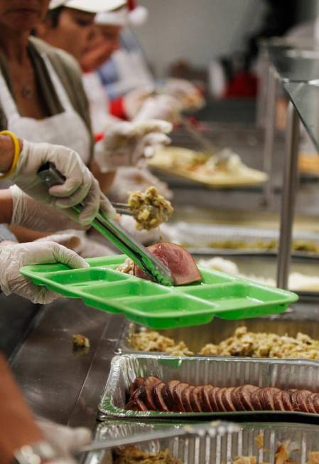
<path fill-rule="evenodd" d="M 198 260 L 198 264 L 206 268 L 220 270 L 223 273 L 236 275 L 245 279 L 254 280 L 264 285 L 276 287 L 276 280 L 273 278 L 266 278 L 264 276 L 254 274 L 242 274 L 239 272 L 239 268 L 236 263 L 231 260 L 220 258 L 220 256 Z M 318 291 L 319 276 L 291 273 L 288 278 L 288 288 L 289 290 Z"/>

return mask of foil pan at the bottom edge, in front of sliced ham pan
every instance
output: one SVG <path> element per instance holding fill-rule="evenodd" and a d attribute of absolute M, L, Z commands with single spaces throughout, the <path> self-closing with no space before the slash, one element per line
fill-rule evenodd
<path fill-rule="evenodd" d="M 169 425 L 169 424 L 167 424 Z M 166 426 L 167 426 L 166 425 Z M 181 424 L 181 425 L 185 425 Z M 108 421 L 97 428 L 96 439 L 107 440 L 132 433 L 151 431 L 161 424 L 137 423 L 134 421 Z M 262 434 L 264 445 L 260 448 L 258 436 Z M 276 449 L 281 443 L 287 443 L 291 451 L 290 460 L 306 463 L 308 453 L 319 450 L 319 426 L 289 423 L 244 423 L 239 432 L 227 433 L 215 438 L 171 438 L 168 440 L 144 443 L 138 448 L 148 453 L 158 453 L 168 448 L 174 458 L 183 464 L 232 464 L 237 456 L 256 456 L 256 463 L 274 463 Z M 113 464 L 112 453 L 90 453 L 85 464 Z"/>

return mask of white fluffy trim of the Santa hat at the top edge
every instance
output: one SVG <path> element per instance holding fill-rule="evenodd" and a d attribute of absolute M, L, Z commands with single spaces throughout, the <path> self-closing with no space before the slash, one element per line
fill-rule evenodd
<path fill-rule="evenodd" d="M 118 0 L 118 2 L 121 2 L 121 5 L 114 6 L 113 9 L 108 7 L 102 13 L 97 14 L 95 23 L 112 26 L 127 26 L 128 24 L 140 26 L 145 23 L 148 18 L 148 10 L 145 6 L 136 5 L 135 0 Z M 119 8 L 120 6 L 122 8 Z"/>

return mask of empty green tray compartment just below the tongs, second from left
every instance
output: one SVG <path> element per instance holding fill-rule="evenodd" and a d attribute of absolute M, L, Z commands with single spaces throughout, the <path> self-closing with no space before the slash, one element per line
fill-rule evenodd
<path fill-rule="evenodd" d="M 97 299 L 105 300 L 105 298 L 127 298 L 127 297 L 151 297 L 157 295 L 166 295 L 170 290 L 166 290 L 161 285 L 153 285 L 152 283 L 137 281 L 131 279 L 129 285 L 126 282 L 90 286 L 82 290 L 83 293 L 94 295 Z"/>

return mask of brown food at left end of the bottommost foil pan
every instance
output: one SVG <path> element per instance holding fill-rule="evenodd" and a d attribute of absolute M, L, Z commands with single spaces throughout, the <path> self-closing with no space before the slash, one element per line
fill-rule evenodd
<path fill-rule="evenodd" d="M 114 464 L 183 464 L 180 459 L 173 458 L 169 450 L 158 453 L 146 453 L 136 446 L 126 446 L 113 450 Z"/>

